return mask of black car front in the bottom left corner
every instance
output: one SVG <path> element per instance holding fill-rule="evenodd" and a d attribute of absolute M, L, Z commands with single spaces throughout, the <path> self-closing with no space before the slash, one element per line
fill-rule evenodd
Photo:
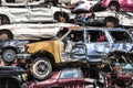
<path fill-rule="evenodd" d="M 28 88 L 27 74 L 21 67 L 0 66 L 0 88 Z"/>

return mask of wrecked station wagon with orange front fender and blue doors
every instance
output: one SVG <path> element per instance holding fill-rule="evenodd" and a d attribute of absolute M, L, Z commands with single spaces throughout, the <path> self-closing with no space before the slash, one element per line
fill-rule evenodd
<path fill-rule="evenodd" d="M 110 53 L 129 53 L 133 48 L 133 38 L 127 30 L 119 28 L 65 28 L 55 37 L 25 43 L 23 48 L 24 54 L 30 55 L 33 77 L 45 79 L 59 65 L 100 63 Z M 29 58 L 29 55 L 24 58 Z M 132 56 L 127 58 L 132 59 Z"/>

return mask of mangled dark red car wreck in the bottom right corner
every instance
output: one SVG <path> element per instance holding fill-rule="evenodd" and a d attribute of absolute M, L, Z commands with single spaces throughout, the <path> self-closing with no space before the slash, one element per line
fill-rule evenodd
<path fill-rule="evenodd" d="M 132 88 L 133 79 L 132 79 L 132 68 L 124 68 L 123 65 L 132 65 L 126 63 L 110 63 L 108 68 L 110 72 L 100 73 L 100 80 L 98 85 L 102 88 L 112 88 L 112 87 L 124 87 Z M 131 66 L 132 67 L 132 66 Z M 127 69 L 130 72 L 127 73 Z"/>

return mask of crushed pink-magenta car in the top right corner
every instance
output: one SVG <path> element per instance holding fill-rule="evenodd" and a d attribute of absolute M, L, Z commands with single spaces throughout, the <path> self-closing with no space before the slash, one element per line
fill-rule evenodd
<path fill-rule="evenodd" d="M 133 0 L 100 0 L 95 7 L 98 6 L 117 11 L 133 11 Z"/>

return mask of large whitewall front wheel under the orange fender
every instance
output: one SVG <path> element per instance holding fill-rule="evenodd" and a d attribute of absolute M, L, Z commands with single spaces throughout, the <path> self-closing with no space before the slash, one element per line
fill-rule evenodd
<path fill-rule="evenodd" d="M 38 57 L 32 62 L 31 74 L 37 79 L 45 79 L 52 73 L 52 65 L 47 57 Z"/>

